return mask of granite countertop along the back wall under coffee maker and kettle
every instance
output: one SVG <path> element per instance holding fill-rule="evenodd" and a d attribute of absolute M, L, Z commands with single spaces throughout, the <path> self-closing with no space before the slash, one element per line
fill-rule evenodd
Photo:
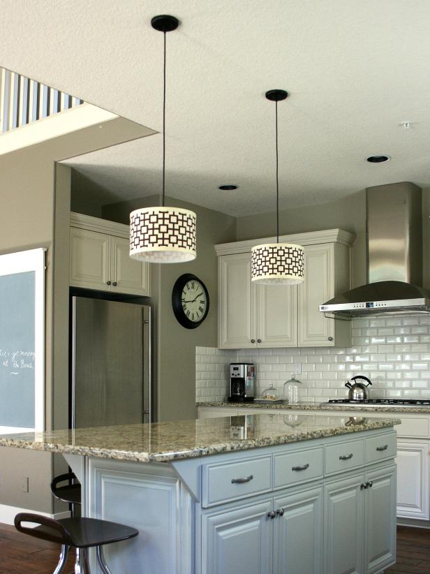
<path fill-rule="evenodd" d="M 230 403 L 222 401 L 214 402 L 198 402 L 196 406 L 207 406 L 207 407 L 234 407 L 237 409 L 241 407 L 243 409 L 280 409 L 281 411 L 343 411 L 355 413 L 359 411 L 360 413 L 410 413 L 410 414 L 426 414 L 430 415 L 430 406 L 367 406 L 364 404 L 319 404 L 319 403 L 307 403 L 299 402 L 298 404 L 288 404 L 287 402 L 282 403 L 258 403 L 258 402 L 239 402 Z"/>

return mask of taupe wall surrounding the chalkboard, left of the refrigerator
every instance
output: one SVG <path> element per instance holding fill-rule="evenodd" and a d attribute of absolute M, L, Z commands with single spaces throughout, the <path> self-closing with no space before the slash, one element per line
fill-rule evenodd
<path fill-rule="evenodd" d="M 70 175 L 61 172 L 61 197 L 55 202 L 55 161 L 147 135 L 147 128 L 118 118 L 98 126 L 0 156 L 0 253 L 47 247 L 45 302 L 46 427 L 66 427 L 68 397 L 68 263 L 57 270 L 54 297 L 54 214 L 61 214 L 62 233 L 70 198 Z M 63 202 L 61 204 L 61 202 Z M 56 209 L 57 208 L 57 209 Z M 64 254 L 63 254 L 64 255 Z M 68 256 L 68 253 L 67 253 Z M 67 265 L 67 268 L 66 268 Z M 55 357 L 55 361 L 54 361 Z M 56 375 L 53 376 L 54 368 Z M 0 448 L 0 504 L 52 513 L 50 494 L 53 456 Z M 29 493 L 22 492 L 22 477 L 29 477 Z"/>

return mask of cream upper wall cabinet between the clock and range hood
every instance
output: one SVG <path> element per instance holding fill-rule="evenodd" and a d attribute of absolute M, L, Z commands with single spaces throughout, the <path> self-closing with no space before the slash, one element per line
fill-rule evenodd
<path fill-rule="evenodd" d="M 350 321 L 325 317 L 319 305 L 350 288 L 354 239 L 339 229 L 280 237 L 304 246 L 299 286 L 251 283 L 251 247 L 272 239 L 216 245 L 219 348 L 349 346 Z"/>

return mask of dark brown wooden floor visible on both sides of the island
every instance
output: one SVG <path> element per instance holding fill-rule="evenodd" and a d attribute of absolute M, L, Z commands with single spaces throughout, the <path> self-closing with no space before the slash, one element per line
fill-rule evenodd
<path fill-rule="evenodd" d="M 52 574 L 59 546 L 0 525 L 0 574 Z M 73 571 L 73 557 L 66 572 Z M 430 530 L 399 527 L 397 561 L 385 574 L 430 574 Z"/>

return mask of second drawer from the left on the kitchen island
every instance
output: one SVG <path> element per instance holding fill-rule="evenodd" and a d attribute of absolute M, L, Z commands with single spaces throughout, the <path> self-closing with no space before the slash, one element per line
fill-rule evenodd
<path fill-rule="evenodd" d="M 324 449 L 311 448 L 298 450 L 287 455 L 274 456 L 274 488 L 279 488 L 305 480 L 313 480 L 323 476 Z"/>

